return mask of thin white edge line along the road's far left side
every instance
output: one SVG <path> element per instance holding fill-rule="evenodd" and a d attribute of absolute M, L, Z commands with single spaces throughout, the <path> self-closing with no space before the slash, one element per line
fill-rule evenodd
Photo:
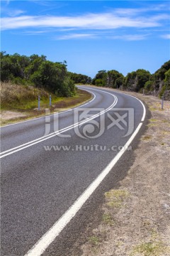
<path fill-rule="evenodd" d="M 79 88 L 80 90 L 83 90 L 83 89 L 81 89 L 81 88 Z M 89 90 L 86 90 L 87 92 L 90 92 Z M 84 107 L 84 106 L 86 106 L 87 104 L 89 104 L 89 103 L 91 103 L 91 102 L 93 102 L 94 100 L 95 100 L 95 98 L 96 98 L 96 95 L 93 93 L 93 92 L 90 92 L 92 95 L 94 95 L 94 97 L 93 97 L 93 99 L 91 100 L 91 101 L 89 101 L 89 102 L 86 102 L 85 104 L 83 104 L 83 105 L 79 105 L 79 107 Z M 29 120 L 25 120 L 25 121 L 21 121 L 21 122 L 16 122 L 16 123 L 14 123 L 14 124 L 6 124 L 6 125 L 4 125 L 3 127 L 0 127 L 0 129 L 1 128 L 5 128 L 5 127 L 9 127 L 9 126 L 11 126 L 11 125 L 15 125 L 15 124 L 23 124 L 23 123 L 25 123 L 25 122 L 30 122 L 30 121 L 34 121 L 34 120 L 38 120 L 38 119 L 42 119 L 42 118 L 45 118 L 45 117 L 51 117 L 51 116 L 54 116 L 54 115 L 56 115 L 56 114 L 63 114 L 63 113 L 66 113 L 66 112 L 69 112 L 69 111 L 72 111 L 72 110 L 76 110 L 78 107 L 74 107 L 74 108 L 72 108 L 72 109 L 70 109 L 70 110 L 65 110 L 65 111 L 61 111 L 61 112 L 57 112 L 57 113 L 54 113 L 54 114 L 47 114 L 47 115 L 45 115 L 45 116 L 42 116 L 42 117 L 35 117 L 35 118 L 33 118 L 33 119 L 29 119 Z"/>

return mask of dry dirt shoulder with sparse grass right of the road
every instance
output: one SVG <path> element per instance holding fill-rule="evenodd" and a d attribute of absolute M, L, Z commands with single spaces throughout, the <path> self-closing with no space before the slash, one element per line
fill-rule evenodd
<path fill-rule="evenodd" d="M 152 114 L 120 187 L 105 193 L 98 228 L 81 246 L 82 256 L 170 255 L 170 102 L 140 98 Z"/>

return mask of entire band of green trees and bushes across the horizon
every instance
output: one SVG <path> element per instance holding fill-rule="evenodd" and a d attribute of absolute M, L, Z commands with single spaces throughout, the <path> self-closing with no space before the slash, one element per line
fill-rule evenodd
<path fill-rule="evenodd" d="M 14 85 L 33 86 L 47 90 L 57 97 L 73 97 L 77 90 L 75 84 L 111 87 L 132 92 L 162 97 L 170 100 L 170 60 L 154 74 L 138 69 L 124 76 L 117 70 L 100 70 L 94 79 L 88 75 L 72 73 L 67 70 L 67 62 L 52 62 L 45 55 L 9 55 L 1 52 L 1 82 Z"/>

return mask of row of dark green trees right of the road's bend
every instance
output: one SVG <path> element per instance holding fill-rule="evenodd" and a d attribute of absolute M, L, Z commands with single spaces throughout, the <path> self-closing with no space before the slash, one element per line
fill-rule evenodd
<path fill-rule="evenodd" d="M 164 63 L 154 74 L 138 69 L 123 76 L 117 70 L 100 70 L 92 80 L 92 85 L 111 87 L 132 92 L 162 97 L 170 100 L 170 60 Z"/>

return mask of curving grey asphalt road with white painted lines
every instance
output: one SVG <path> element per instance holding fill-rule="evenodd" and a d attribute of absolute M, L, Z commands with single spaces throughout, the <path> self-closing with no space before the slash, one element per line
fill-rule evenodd
<path fill-rule="evenodd" d="M 81 88 L 93 95 L 85 105 L 1 127 L 1 256 L 70 255 L 132 161 L 142 102 Z"/>

